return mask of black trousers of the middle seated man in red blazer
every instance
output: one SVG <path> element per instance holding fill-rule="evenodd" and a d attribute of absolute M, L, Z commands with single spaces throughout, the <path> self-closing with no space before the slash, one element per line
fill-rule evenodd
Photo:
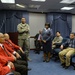
<path fill-rule="evenodd" d="M 21 73 L 21 75 L 27 75 L 28 68 L 25 65 L 25 61 L 16 60 L 14 62 L 15 71 Z"/>

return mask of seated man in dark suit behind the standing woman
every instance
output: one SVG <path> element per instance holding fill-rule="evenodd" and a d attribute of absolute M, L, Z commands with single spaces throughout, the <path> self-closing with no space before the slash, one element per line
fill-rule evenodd
<path fill-rule="evenodd" d="M 34 41 L 34 43 L 35 43 L 35 47 L 36 47 L 36 51 L 35 51 L 35 53 L 40 53 L 40 50 L 41 50 L 41 48 L 42 48 L 42 41 L 41 41 L 41 30 L 39 31 L 39 33 L 38 34 L 36 34 L 35 35 L 35 41 Z"/>

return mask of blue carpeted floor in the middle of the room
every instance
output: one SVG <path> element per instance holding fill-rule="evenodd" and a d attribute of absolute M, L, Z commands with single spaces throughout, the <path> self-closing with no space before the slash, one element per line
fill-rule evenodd
<path fill-rule="evenodd" d="M 75 75 L 75 70 L 71 66 L 69 69 L 64 69 L 60 66 L 60 62 L 54 62 L 52 59 L 49 63 L 43 62 L 43 53 L 35 54 L 30 51 L 32 62 L 29 67 L 32 68 L 28 75 Z"/>

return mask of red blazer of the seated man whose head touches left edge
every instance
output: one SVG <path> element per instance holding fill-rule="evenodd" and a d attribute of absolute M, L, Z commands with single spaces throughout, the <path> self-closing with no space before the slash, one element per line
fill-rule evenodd
<path fill-rule="evenodd" d="M 6 52 L 10 55 L 8 56 L 4 49 L 0 46 L 0 55 L 5 57 L 8 61 L 14 61 L 12 54 L 5 48 Z"/>

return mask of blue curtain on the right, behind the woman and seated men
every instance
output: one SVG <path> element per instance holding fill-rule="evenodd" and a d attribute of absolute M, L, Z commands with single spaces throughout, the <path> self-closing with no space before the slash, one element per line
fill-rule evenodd
<path fill-rule="evenodd" d="M 68 37 L 72 31 L 72 15 L 62 13 L 49 13 L 47 14 L 46 22 L 51 24 L 53 34 L 60 31 L 63 37 Z"/>

